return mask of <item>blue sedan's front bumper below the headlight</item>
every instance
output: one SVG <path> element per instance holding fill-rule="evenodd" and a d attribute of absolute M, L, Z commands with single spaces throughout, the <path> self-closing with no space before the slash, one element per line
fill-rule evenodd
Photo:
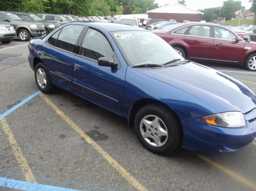
<path fill-rule="evenodd" d="M 256 140 L 256 120 L 246 120 L 242 128 L 222 128 L 207 124 L 203 117 L 181 118 L 183 148 L 206 155 L 236 152 Z"/>

